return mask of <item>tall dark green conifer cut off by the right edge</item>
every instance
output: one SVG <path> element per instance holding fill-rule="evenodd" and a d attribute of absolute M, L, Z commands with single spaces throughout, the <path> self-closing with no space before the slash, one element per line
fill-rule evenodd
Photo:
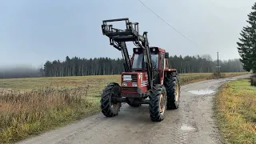
<path fill-rule="evenodd" d="M 243 68 L 246 71 L 253 70 L 256 73 L 256 2 L 252 6 L 252 12 L 248 14 L 246 22 L 249 26 L 244 26 L 240 33 L 242 38 L 238 38 L 238 53 L 241 56 L 240 61 L 243 63 Z"/>

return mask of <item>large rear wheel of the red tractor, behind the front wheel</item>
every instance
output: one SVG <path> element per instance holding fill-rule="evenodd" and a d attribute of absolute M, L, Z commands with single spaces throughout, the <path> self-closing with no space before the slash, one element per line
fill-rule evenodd
<path fill-rule="evenodd" d="M 174 110 L 178 109 L 180 102 L 180 84 L 179 76 L 177 73 L 167 74 L 164 80 L 164 86 L 166 86 L 167 94 L 167 109 Z"/>

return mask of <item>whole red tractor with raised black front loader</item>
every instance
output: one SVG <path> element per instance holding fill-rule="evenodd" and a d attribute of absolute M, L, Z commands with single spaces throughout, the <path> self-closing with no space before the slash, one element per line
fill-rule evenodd
<path fill-rule="evenodd" d="M 126 22 L 126 30 L 114 29 L 107 22 Z M 116 82 L 107 84 L 102 90 L 101 109 L 106 117 L 118 114 L 122 102 L 130 106 L 149 104 L 150 118 L 161 122 L 167 109 L 178 109 L 180 100 L 179 75 L 169 69 L 169 53 L 149 46 L 147 32 L 138 33 L 138 22 L 129 18 L 104 20 L 102 33 L 110 38 L 110 45 L 122 51 L 124 69 L 121 86 Z M 129 57 L 126 42 L 134 42 L 134 54 Z M 149 99 L 148 99 L 149 98 Z"/>

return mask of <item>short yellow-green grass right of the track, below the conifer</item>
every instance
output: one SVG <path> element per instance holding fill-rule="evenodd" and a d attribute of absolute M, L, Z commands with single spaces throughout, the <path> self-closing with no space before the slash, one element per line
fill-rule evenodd
<path fill-rule="evenodd" d="M 256 87 L 249 79 L 223 85 L 215 112 L 226 143 L 256 143 Z"/>

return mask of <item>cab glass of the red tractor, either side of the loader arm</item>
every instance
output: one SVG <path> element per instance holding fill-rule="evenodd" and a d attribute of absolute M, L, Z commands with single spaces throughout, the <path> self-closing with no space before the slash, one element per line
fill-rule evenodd
<path fill-rule="evenodd" d="M 143 54 L 134 54 L 133 69 L 142 69 Z M 152 65 L 155 69 L 158 69 L 158 54 L 151 54 Z M 144 58 L 146 62 L 146 59 Z"/>

